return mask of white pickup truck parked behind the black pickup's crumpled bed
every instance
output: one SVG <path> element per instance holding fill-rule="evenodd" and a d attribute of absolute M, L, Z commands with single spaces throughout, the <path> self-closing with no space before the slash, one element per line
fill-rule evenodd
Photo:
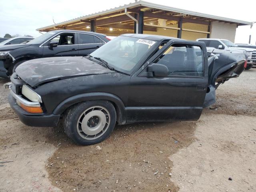
<path fill-rule="evenodd" d="M 226 39 L 206 39 L 201 38 L 196 41 L 201 41 L 206 44 L 207 52 L 212 52 L 213 54 L 221 54 L 221 53 L 244 53 L 247 58 L 247 67 L 246 70 L 252 68 L 254 63 L 256 62 L 256 49 L 252 48 L 244 48 L 238 47 L 236 44 L 232 43 L 230 40 Z M 254 53 L 254 54 L 253 54 Z"/>

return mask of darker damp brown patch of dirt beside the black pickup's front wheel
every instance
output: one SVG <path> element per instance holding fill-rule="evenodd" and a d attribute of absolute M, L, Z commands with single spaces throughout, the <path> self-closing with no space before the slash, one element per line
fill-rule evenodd
<path fill-rule="evenodd" d="M 195 126 L 195 122 L 118 126 L 98 145 L 61 144 L 46 168 L 52 183 L 64 192 L 177 192 L 170 181 L 168 156 L 194 141 Z"/>

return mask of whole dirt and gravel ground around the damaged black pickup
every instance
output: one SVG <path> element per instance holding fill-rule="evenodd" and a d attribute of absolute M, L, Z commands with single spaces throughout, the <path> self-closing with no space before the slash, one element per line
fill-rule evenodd
<path fill-rule="evenodd" d="M 74 144 L 62 128 L 22 124 L 5 82 L 1 192 L 256 191 L 256 68 L 220 85 L 216 104 L 197 122 L 116 126 L 93 146 Z"/>

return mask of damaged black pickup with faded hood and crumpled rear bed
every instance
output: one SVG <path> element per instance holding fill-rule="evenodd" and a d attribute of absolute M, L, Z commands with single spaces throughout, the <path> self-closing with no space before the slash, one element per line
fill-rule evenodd
<path fill-rule="evenodd" d="M 24 124 L 62 122 L 74 142 L 89 145 L 116 124 L 198 120 L 245 61 L 240 53 L 208 57 L 204 42 L 124 34 L 88 56 L 24 62 L 5 86 Z"/>

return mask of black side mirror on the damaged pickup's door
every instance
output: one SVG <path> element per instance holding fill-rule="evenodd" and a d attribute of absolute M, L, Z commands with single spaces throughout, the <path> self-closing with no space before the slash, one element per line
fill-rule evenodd
<path fill-rule="evenodd" d="M 169 70 L 165 65 L 153 63 L 148 66 L 148 76 L 150 77 L 167 77 Z"/>

